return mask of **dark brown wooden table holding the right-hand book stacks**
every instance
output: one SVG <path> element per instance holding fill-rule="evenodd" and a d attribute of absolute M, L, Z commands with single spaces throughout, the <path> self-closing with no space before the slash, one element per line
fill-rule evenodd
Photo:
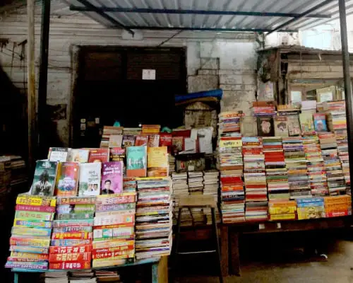
<path fill-rule="evenodd" d="M 290 221 L 260 221 L 222 224 L 220 250 L 222 275 L 240 276 L 239 236 L 242 233 L 279 233 L 336 229 L 350 226 L 351 216 Z"/>

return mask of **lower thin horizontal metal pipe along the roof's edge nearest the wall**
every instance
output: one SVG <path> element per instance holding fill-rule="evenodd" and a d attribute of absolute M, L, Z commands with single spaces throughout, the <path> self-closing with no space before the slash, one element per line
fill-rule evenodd
<path fill-rule="evenodd" d="M 263 28 L 189 28 L 189 27 L 160 27 L 160 26 L 131 26 L 128 25 L 126 28 L 132 30 L 191 30 L 191 31 L 217 31 L 217 32 L 252 32 L 252 33 L 268 33 L 270 29 Z M 298 30 L 280 30 L 285 33 L 297 33 Z"/>

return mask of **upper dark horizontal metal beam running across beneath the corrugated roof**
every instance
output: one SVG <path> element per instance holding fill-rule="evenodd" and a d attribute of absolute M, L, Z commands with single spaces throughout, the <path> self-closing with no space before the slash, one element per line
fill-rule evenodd
<path fill-rule="evenodd" d="M 299 17 L 300 13 L 271 13 L 271 12 L 247 12 L 247 11 L 214 11 L 214 10 L 188 10 L 188 9 L 160 9 L 160 8 L 122 8 L 122 7 L 97 7 L 104 12 L 114 13 L 167 13 L 186 15 L 218 15 L 218 16 L 258 16 L 258 17 Z M 88 7 L 70 5 L 71 11 L 92 12 Z M 331 18 L 330 15 L 309 14 L 306 18 Z"/>

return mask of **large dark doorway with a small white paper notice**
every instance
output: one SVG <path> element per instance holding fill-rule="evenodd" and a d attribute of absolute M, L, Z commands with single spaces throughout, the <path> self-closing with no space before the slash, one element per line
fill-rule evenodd
<path fill-rule="evenodd" d="M 155 71 L 143 79 L 144 70 Z M 114 121 L 124 127 L 182 123 L 174 96 L 186 93 L 184 48 L 82 47 L 77 74 L 73 147 L 99 146 L 100 127 Z"/>

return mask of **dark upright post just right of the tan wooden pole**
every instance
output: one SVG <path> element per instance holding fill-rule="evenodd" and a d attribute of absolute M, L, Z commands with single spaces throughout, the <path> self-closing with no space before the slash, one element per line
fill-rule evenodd
<path fill-rule="evenodd" d="M 40 77 L 38 86 L 38 135 L 39 157 L 44 157 L 48 144 L 46 141 L 46 125 L 49 120 L 47 113 L 47 83 L 48 83 L 48 50 L 50 28 L 50 0 L 42 0 L 42 21 L 40 34 Z"/>

